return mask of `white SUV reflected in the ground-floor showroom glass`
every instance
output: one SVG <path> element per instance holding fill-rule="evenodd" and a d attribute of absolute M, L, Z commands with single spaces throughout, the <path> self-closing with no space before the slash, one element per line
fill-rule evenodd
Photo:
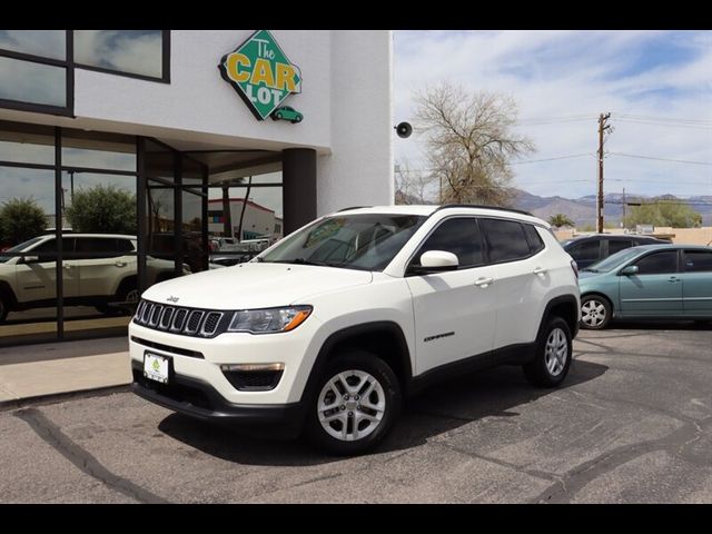
<path fill-rule="evenodd" d="M 87 305 L 120 314 L 126 308 L 117 305 L 138 301 L 136 236 L 65 234 L 62 249 L 66 306 Z M 0 256 L 0 322 L 9 312 L 57 306 L 56 251 L 56 237 L 50 234 L 6 250 L 13 256 Z M 148 257 L 149 284 L 172 277 L 172 265 Z"/>

